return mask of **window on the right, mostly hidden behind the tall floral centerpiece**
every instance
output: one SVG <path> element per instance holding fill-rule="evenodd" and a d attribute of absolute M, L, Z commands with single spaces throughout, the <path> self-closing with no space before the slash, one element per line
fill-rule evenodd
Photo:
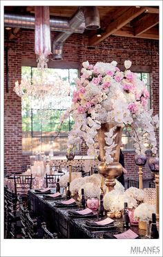
<path fill-rule="evenodd" d="M 150 73 L 138 73 L 139 78 L 146 84 L 146 89 L 151 96 L 151 84 L 150 84 Z M 148 109 L 151 108 L 151 98 L 148 99 Z M 134 150 L 133 140 L 131 140 L 131 136 L 128 134 L 128 130 L 124 128 L 122 133 L 122 143 L 124 150 Z"/>

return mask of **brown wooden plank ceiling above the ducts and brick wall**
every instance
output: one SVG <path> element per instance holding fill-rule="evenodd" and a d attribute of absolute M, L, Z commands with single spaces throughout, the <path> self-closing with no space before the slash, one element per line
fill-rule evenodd
<path fill-rule="evenodd" d="M 50 6 L 50 15 L 72 17 L 78 6 Z M 101 37 L 96 30 L 85 30 L 90 46 L 95 46 L 111 35 L 121 37 L 140 37 L 159 39 L 159 8 L 158 6 L 97 6 L 100 17 Z M 34 6 L 6 6 L 5 12 L 34 14 Z M 15 28 L 15 35 L 19 31 Z M 10 35 L 10 39 L 12 39 Z"/>

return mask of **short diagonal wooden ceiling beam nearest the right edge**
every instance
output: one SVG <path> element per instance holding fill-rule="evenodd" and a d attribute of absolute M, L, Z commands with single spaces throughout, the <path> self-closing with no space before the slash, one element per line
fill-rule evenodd
<path fill-rule="evenodd" d="M 159 23 L 159 15 L 151 15 L 147 14 L 146 16 L 142 17 L 139 21 L 133 23 L 134 27 L 134 34 L 135 36 L 142 34 L 146 30 L 154 27 Z"/>

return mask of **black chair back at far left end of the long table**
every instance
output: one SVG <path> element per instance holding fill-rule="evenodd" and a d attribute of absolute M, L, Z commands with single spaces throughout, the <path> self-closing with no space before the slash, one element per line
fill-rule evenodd
<path fill-rule="evenodd" d="M 14 175 L 15 193 L 28 193 L 32 189 L 32 174 L 31 175 Z"/>

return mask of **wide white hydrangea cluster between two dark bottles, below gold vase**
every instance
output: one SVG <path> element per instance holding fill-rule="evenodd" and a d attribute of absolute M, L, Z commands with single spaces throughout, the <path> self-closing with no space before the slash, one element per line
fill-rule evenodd
<path fill-rule="evenodd" d="M 130 196 L 126 196 L 119 189 L 114 189 L 104 196 L 104 209 L 106 211 L 122 211 L 124 202 L 128 203 L 128 208 L 137 207 L 137 200 Z"/>

